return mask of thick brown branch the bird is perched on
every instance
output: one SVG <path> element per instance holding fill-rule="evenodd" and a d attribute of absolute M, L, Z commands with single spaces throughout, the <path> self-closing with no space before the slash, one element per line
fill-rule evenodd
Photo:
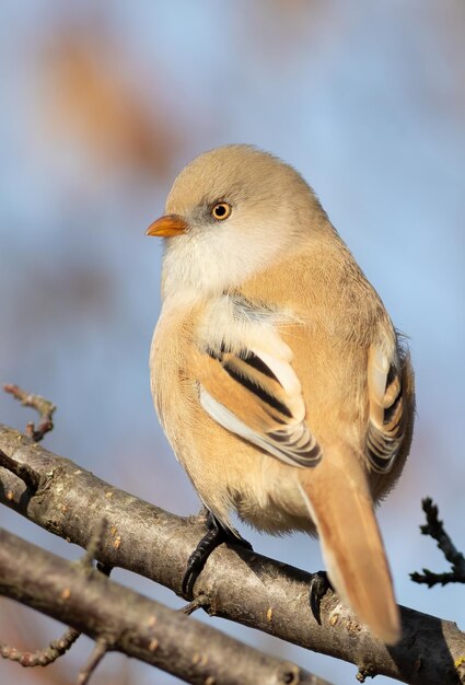
<path fill-rule="evenodd" d="M 187 559 L 205 529 L 100 480 L 8 427 L 0 449 L 40 476 L 31 492 L 0 468 L 0 502 L 46 530 L 86 547 L 96 516 L 108 521 L 98 560 L 130 569 L 182 593 Z M 360 677 L 384 674 L 405 683 L 465 683 L 458 673 L 465 636 L 455 624 L 402 608 L 403 639 L 394 648 L 375 640 L 334 594 L 322 601 L 322 625 L 309 608 L 311 576 L 241 547 L 221 545 L 194 588 L 205 609 L 283 640 L 356 663 Z"/>

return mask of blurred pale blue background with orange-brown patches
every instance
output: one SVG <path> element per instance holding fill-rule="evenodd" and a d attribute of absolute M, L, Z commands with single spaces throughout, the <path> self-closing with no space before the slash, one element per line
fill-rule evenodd
<path fill-rule="evenodd" d="M 438 501 L 465 548 L 464 3 L 28 0 L 2 2 L 0 19 L 0 381 L 58 405 L 45 445 L 173 512 L 198 510 L 152 408 L 161 244 L 144 230 L 198 153 L 228 142 L 270 150 L 314 186 L 410 336 L 414 449 L 380 520 L 399 602 L 465 628 L 463 587 L 428 590 L 408 577 L 445 570 L 418 530 L 422 497 Z M 0 394 L 1 422 L 23 427 L 32 416 Z M 0 524 L 81 555 L 5 508 Z M 303 535 L 241 531 L 257 552 L 322 568 Z M 143 579 L 114 577 L 182 604 Z M 62 631 L 12 602 L 0 608 L 1 641 L 34 650 Z M 333 683 L 354 682 L 353 665 L 196 616 Z M 82 637 L 46 670 L 0 662 L 0 681 L 74 683 L 91 649 Z M 92 680 L 177 682 L 117 654 Z"/>

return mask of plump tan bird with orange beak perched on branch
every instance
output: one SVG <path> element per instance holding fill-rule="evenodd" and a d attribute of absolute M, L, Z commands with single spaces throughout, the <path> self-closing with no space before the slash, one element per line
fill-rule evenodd
<path fill-rule="evenodd" d="M 380 295 L 303 176 L 254 146 L 187 164 L 147 234 L 164 239 L 154 406 L 212 521 L 317 535 L 342 603 L 395 645 L 374 506 L 410 450 L 415 383 Z"/>

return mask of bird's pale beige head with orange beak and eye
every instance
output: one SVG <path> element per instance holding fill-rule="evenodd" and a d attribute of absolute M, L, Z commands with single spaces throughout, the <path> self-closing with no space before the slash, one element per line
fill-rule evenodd
<path fill-rule="evenodd" d="M 302 176 L 233 144 L 196 158 L 175 179 L 148 235 L 166 239 L 163 290 L 221 292 L 283 258 L 325 217 Z"/>

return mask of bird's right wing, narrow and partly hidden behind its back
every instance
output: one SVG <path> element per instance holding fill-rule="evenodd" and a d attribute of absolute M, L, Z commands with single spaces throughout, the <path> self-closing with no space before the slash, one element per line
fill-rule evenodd
<path fill-rule="evenodd" d="M 406 433 L 407 406 L 404 375 L 408 359 L 394 359 L 380 347 L 369 352 L 368 387 L 370 399 L 367 455 L 373 471 L 387 474 L 396 460 Z"/>

